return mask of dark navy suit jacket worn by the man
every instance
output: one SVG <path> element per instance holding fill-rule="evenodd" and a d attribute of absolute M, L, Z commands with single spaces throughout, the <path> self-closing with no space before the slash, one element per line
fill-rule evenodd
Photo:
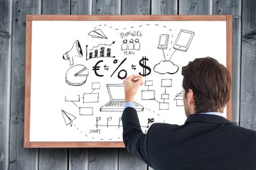
<path fill-rule="evenodd" d="M 153 169 L 256 169 L 256 132 L 218 115 L 190 115 L 184 125 L 154 123 L 146 135 L 137 111 L 125 108 L 127 150 Z"/>

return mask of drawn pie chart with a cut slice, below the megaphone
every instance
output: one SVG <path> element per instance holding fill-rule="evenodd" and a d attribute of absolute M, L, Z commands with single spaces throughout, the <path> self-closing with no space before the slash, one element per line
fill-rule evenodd
<path fill-rule="evenodd" d="M 84 65 L 78 64 L 68 69 L 65 81 L 71 86 L 81 86 L 85 84 L 88 75 L 89 70 Z"/>

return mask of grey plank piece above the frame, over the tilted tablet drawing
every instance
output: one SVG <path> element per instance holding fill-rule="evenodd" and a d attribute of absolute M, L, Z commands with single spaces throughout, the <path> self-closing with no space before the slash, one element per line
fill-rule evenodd
<path fill-rule="evenodd" d="M 209 15 L 212 14 L 211 0 L 183 0 L 178 4 L 179 15 Z"/>

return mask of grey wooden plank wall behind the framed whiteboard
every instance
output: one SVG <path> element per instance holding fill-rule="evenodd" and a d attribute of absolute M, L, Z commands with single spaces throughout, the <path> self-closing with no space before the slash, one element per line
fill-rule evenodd
<path fill-rule="evenodd" d="M 0 0 L 1 170 L 151 169 L 125 149 L 23 148 L 26 14 L 233 14 L 233 122 L 256 130 L 256 1 Z"/>

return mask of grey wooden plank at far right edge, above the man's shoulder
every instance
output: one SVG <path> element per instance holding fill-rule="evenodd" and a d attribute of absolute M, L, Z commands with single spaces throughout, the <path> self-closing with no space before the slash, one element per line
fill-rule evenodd
<path fill-rule="evenodd" d="M 256 130 L 256 1 L 242 1 L 240 125 Z"/>

